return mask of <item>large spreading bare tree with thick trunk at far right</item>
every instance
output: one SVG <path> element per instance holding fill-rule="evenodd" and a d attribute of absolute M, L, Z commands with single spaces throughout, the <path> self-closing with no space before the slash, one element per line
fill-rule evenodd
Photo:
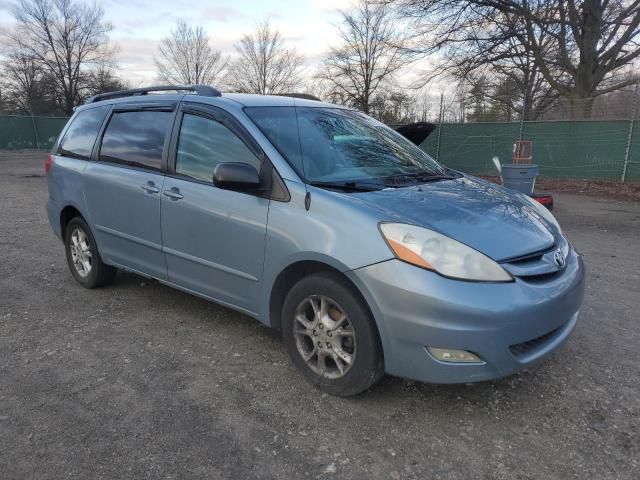
<path fill-rule="evenodd" d="M 467 72 L 528 56 L 556 95 L 587 116 L 593 99 L 637 81 L 640 0 L 395 0 L 415 20 L 417 50 Z M 534 83 L 527 82 L 533 89 Z"/>

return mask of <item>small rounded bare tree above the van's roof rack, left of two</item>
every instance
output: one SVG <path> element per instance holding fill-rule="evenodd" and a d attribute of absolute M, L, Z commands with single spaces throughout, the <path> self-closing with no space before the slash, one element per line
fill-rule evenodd
<path fill-rule="evenodd" d="M 204 28 L 179 21 L 171 35 L 160 42 L 154 62 L 163 82 L 214 85 L 224 76 L 229 58 L 211 48 Z"/>

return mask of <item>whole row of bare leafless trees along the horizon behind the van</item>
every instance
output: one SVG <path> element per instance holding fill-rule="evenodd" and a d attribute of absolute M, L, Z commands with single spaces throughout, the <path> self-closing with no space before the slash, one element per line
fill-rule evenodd
<path fill-rule="evenodd" d="M 69 115 L 90 95 L 128 87 L 101 7 L 19 0 L 12 13 L 1 110 Z M 232 56 L 178 21 L 154 57 L 157 80 L 306 92 L 389 123 L 581 119 L 633 103 L 624 93 L 638 81 L 640 0 L 355 0 L 339 18 L 315 68 L 268 20 Z M 442 84 L 445 102 L 431 88 Z"/>

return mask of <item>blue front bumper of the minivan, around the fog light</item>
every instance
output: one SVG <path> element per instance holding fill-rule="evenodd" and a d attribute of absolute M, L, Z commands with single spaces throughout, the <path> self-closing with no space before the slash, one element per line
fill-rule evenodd
<path fill-rule="evenodd" d="M 585 283 L 573 249 L 564 270 L 542 280 L 464 282 L 399 260 L 349 275 L 376 319 L 386 372 L 431 383 L 503 377 L 546 357 L 575 327 Z M 441 362 L 427 346 L 467 350 L 482 362 Z"/>

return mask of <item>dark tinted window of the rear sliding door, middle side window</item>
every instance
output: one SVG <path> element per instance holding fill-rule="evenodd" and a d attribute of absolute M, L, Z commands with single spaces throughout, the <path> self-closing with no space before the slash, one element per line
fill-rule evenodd
<path fill-rule="evenodd" d="M 160 170 L 171 112 L 115 112 L 100 147 L 100 160 Z"/>

